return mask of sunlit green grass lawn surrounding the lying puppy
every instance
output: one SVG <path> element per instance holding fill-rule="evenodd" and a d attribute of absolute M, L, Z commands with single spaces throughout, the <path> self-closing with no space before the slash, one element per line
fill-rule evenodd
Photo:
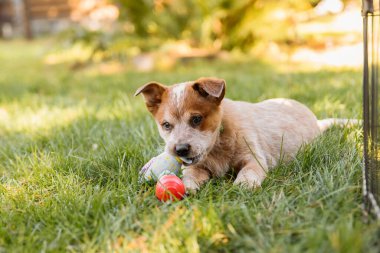
<path fill-rule="evenodd" d="M 360 70 L 235 59 L 101 75 L 44 65 L 45 47 L 0 43 L 0 252 L 378 252 L 359 129 L 329 130 L 255 191 L 229 175 L 164 204 L 137 181 L 163 146 L 133 97 L 145 82 L 218 76 L 233 99 L 290 97 L 319 118 L 357 118 Z"/>

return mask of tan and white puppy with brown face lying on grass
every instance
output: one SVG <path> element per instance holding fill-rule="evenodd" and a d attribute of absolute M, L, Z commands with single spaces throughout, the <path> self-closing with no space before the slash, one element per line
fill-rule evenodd
<path fill-rule="evenodd" d="M 188 192 L 229 169 L 237 172 L 234 184 L 258 187 L 268 169 L 292 159 L 302 144 L 333 124 L 318 121 L 294 100 L 252 104 L 226 99 L 225 92 L 224 80 L 200 78 L 170 87 L 151 82 L 135 93 L 144 96 L 166 152 L 186 166 L 183 182 Z"/>

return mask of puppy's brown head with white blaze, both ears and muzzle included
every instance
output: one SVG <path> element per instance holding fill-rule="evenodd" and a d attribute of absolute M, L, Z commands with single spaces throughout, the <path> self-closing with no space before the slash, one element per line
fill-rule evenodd
<path fill-rule="evenodd" d="M 170 87 L 151 82 L 135 95 L 143 94 L 166 142 L 165 150 L 185 165 L 194 165 L 207 156 L 217 140 L 225 89 L 224 80 L 200 78 Z"/>

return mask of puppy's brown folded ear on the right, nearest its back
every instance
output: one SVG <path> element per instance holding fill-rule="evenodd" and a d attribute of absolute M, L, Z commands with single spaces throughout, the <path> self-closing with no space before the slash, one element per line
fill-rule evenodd
<path fill-rule="evenodd" d="M 220 104 L 226 92 L 226 82 L 223 79 L 202 77 L 194 82 L 193 89 L 202 97 Z"/>

